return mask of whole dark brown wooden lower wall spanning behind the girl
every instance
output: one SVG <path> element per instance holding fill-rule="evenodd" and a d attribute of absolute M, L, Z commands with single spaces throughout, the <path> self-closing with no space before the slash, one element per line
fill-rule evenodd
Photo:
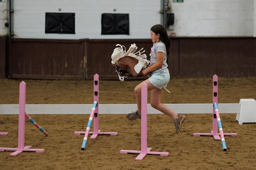
<path fill-rule="evenodd" d="M 255 38 L 170 38 L 170 41 L 167 62 L 171 77 L 256 76 Z M 93 79 L 97 73 L 100 79 L 118 80 L 111 66 L 113 49 L 121 44 L 128 50 L 133 43 L 138 49 L 143 47 L 150 60 L 153 45 L 150 39 L 10 39 L 8 77 L 85 80 Z M 3 72 L 1 67 L 0 75 Z"/>

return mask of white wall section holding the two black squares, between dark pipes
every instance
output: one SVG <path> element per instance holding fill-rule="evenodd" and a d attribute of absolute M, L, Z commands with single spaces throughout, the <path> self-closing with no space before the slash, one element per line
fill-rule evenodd
<path fill-rule="evenodd" d="M 150 28 L 161 22 L 160 8 L 161 0 L 14 1 L 14 37 L 45 39 L 150 38 Z M 45 34 L 46 12 L 75 13 L 76 34 Z M 130 35 L 101 35 L 102 13 L 129 13 Z"/>

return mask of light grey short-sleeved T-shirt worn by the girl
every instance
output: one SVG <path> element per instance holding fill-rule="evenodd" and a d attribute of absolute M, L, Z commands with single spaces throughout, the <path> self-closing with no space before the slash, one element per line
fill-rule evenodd
<path fill-rule="evenodd" d="M 159 41 L 159 42 L 156 42 L 153 44 L 153 47 L 151 48 L 151 52 L 150 52 L 151 66 L 156 63 L 156 60 L 157 60 L 156 53 L 157 52 L 163 52 L 165 54 L 164 55 L 164 63 L 161 68 L 154 70 L 152 73 L 169 73 L 169 70 L 167 68 L 168 65 L 166 63 L 167 55 L 166 55 L 166 48 L 165 48 L 164 42 Z"/>

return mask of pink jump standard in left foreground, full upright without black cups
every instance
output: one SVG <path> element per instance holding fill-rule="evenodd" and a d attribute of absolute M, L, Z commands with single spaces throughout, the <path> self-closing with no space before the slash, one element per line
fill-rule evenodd
<path fill-rule="evenodd" d="M 26 104 L 26 83 L 20 83 L 19 118 L 18 118 L 18 148 L 0 148 L 0 151 L 15 151 L 10 156 L 16 156 L 23 151 L 44 152 L 44 149 L 30 149 L 32 146 L 25 146 L 25 104 Z"/>

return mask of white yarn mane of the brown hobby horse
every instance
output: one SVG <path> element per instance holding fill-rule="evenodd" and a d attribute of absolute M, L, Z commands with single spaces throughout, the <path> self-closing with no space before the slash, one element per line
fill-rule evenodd
<path fill-rule="evenodd" d="M 136 52 L 138 47 L 136 46 L 135 43 L 131 44 L 131 46 L 129 47 L 127 52 L 126 52 L 125 46 L 120 45 L 120 44 L 117 44 L 116 46 L 120 46 L 120 47 L 115 48 L 111 55 L 111 58 L 112 58 L 111 63 L 112 64 L 116 63 L 120 58 L 122 58 L 124 56 L 134 57 L 137 60 L 139 60 L 140 62 L 142 62 L 143 69 L 145 69 L 148 66 L 148 64 L 150 63 L 150 61 L 146 59 L 147 56 L 145 54 L 142 54 L 143 52 L 145 52 L 145 50 L 140 52 L 141 50 L 143 50 L 143 48 Z"/>

